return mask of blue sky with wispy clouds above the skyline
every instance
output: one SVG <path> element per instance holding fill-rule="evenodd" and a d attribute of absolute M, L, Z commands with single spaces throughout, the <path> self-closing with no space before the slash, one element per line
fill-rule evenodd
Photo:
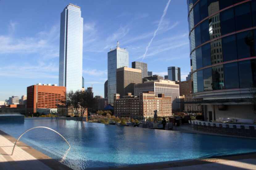
<path fill-rule="evenodd" d="M 0 101 L 27 94 L 36 83 L 58 84 L 60 13 L 73 3 L 84 18 L 83 76 L 94 95 L 104 97 L 107 53 L 116 42 L 142 61 L 158 28 L 168 0 L 0 0 Z M 171 0 L 167 13 L 148 48 L 144 62 L 153 74 L 166 75 L 168 66 L 190 71 L 187 5 Z"/>

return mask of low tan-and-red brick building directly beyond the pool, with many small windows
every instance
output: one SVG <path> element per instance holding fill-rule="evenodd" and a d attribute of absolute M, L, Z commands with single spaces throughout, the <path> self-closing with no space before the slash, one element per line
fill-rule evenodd
<path fill-rule="evenodd" d="M 141 93 L 138 97 L 128 93 L 120 98 L 119 94 L 114 95 L 114 115 L 117 117 L 130 117 L 138 120 L 154 117 L 154 110 L 157 110 L 158 117 L 169 117 L 171 113 L 171 97 L 164 94 L 155 95 L 154 92 Z"/>

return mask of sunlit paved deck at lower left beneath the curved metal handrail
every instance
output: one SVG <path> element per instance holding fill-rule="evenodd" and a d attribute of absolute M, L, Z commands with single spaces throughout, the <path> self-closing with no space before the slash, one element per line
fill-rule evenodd
<path fill-rule="evenodd" d="M 71 170 L 20 141 L 11 155 L 15 140 L 0 131 L 0 170 Z"/>

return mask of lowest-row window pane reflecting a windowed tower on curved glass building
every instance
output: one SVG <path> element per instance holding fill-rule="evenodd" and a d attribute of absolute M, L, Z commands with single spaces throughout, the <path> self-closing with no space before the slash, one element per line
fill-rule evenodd
<path fill-rule="evenodd" d="M 217 65 L 212 67 L 212 77 L 213 77 L 213 90 L 224 89 L 223 65 Z"/>

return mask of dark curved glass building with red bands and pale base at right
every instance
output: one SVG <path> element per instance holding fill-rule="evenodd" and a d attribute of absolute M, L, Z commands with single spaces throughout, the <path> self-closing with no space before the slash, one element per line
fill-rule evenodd
<path fill-rule="evenodd" d="M 205 120 L 256 119 L 256 0 L 187 0 L 193 98 Z"/>

